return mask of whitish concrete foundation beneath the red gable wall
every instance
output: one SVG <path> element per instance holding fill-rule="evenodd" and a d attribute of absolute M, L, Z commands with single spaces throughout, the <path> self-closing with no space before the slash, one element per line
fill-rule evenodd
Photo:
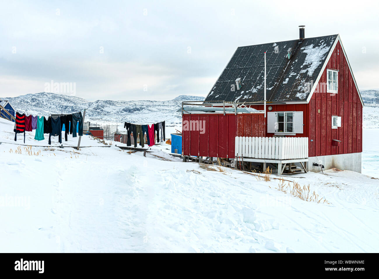
<path fill-rule="evenodd" d="M 362 172 L 362 153 L 309 157 L 308 171 L 319 172 L 321 168 L 313 166 L 313 163 L 323 164 L 325 169 L 337 168 L 360 173 Z"/>

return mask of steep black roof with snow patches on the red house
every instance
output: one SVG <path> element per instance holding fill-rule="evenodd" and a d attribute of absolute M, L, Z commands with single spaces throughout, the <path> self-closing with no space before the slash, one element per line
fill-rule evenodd
<path fill-rule="evenodd" d="M 304 101 L 338 35 L 238 47 L 205 101 L 271 102 Z M 288 60 L 287 51 L 292 48 Z M 241 88 L 231 85 L 241 78 Z"/>

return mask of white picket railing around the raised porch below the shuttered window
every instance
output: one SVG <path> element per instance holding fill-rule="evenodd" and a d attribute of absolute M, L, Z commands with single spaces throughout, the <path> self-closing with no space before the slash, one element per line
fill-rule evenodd
<path fill-rule="evenodd" d="M 273 160 L 308 158 L 308 138 L 236 136 L 235 157 L 241 156 Z"/>

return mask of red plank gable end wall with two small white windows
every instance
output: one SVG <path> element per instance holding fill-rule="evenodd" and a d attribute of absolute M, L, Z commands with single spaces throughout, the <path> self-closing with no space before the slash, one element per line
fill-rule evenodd
<path fill-rule="evenodd" d="M 327 69 L 338 70 L 338 94 L 326 92 Z M 362 152 L 362 103 L 339 42 L 307 107 L 310 157 Z M 341 127 L 332 129 L 332 115 L 341 116 Z M 333 139 L 341 141 L 339 146 L 332 146 Z"/>

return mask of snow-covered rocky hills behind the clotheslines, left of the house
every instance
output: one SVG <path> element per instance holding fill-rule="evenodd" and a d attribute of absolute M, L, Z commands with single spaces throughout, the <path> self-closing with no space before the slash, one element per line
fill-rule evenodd
<path fill-rule="evenodd" d="M 180 113 L 176 111 L 181 107 L 182 101 L 204 100 L 204 97 L 180 95 L 168 101 L 112 101 L 88 100 L 68 96 L 63 94 L 41 92 L 36 94 L 26 94 L 13 98 L 3 98 L 9 100 L 18 111 L 29 114 L 48 115 L 58 113 L 72 113 L 76 111 L 86 111 L 88 121 L 103 122 L 133 122 L 150 124 L 164 120 L 166 125 L 180 125 L 182 119 Z"/>

